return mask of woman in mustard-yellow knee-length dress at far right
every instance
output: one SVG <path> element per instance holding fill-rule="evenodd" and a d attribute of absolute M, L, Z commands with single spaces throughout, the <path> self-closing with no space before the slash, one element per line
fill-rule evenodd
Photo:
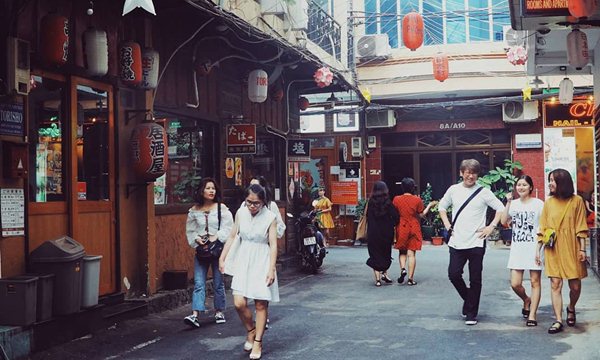
<path fill-rule="evenodd" d="M 544 268 L 550 278 L 552 308 L 556 316 L 548 333 L 556 334 L 563 331 L 563 279 L 569 282 L 567 325 L 575 326 L 575 305 L 581 294 L 581 279 L 587 276 L 585 239 L 588 237 L 588 227 L 585 204 L 580 196 L 574 194 L 573 179 L 568 171 L 551 171 L 548 174 L 548 188 L 551 196 L 546 199 L 540 216 L 536 262 L 540 263 L 542 234 L 546 229 L 554 229 L 554 247 L 544 247 Z"/>

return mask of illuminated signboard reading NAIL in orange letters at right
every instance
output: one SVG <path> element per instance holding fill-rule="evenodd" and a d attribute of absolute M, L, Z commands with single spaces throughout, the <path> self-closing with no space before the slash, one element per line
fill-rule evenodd
<path fill-rule="evenodd" d="M 544 103 L 546 127 L 578 127 L 594 125 L 594 103 L 574 101 L 568 105 Z"/>

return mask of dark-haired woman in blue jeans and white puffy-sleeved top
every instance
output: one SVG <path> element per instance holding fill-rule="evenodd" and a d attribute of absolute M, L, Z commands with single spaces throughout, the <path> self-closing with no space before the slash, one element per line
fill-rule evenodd
<path fill-rule="evenodd" d="M 195 194 L 194 206 L 188 212 L 185 231 L 189 245 L 196 249 L 214 241 L 227 241 L 233 226 L 231 212 L 221 203 L 221 189 L 211 178 L 200 181 Z M 197 249 L 198 250 L 198 249 Z M 197 252 L 198 254 L 198 252 Z M 225 284 L 223 274 L 219 271 L 219 257 L 194 256 L 194 293 L 192 294 L 192 314 L 184 319 L 187 325 L 198 328 L 200 312 L 206 311 L 206 276 L 212 267 L 213 288 L 215 291 L 215 322 L 225 322 Z"/>

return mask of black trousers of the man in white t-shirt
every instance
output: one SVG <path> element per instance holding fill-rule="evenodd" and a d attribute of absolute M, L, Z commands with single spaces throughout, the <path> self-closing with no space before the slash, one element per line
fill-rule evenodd
<path fill-rule="evenodd" d="M 481 274 L 483 272 L 483 255 L 485 247 L 457 250 L 450 249 L 450 263 L 448 264 L 448 278 L 454 288 L 464 300 L 463 314 L 467 318 L 476 318 L 479 312 L 479 299 L 481 297 Z M 469 262 L 469 287 L 463 279 L 463 269 Z"/>

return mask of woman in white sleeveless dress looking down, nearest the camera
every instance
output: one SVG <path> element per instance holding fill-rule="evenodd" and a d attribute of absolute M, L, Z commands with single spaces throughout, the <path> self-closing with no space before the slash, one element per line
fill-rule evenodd
<path fill-rule="evenodd" d="M 235 215 L 229 241 L 219 259 L 219 270 L 233 276 L 233 302 L 247 331 L 244 351 L 251 351 L 250 359 L 260 359 L 269 302 L 279 301 L 275 274 L 277 222 L 273 212 L 265 206 L 266 192 L 262 186 L 250 185 L 245 197 L 246 206 L 240 207 Z M 232 246 L 236 249 L 228 259 Z M 248 308 L 248 299 L 254 300 L 256 324 Z"/>

